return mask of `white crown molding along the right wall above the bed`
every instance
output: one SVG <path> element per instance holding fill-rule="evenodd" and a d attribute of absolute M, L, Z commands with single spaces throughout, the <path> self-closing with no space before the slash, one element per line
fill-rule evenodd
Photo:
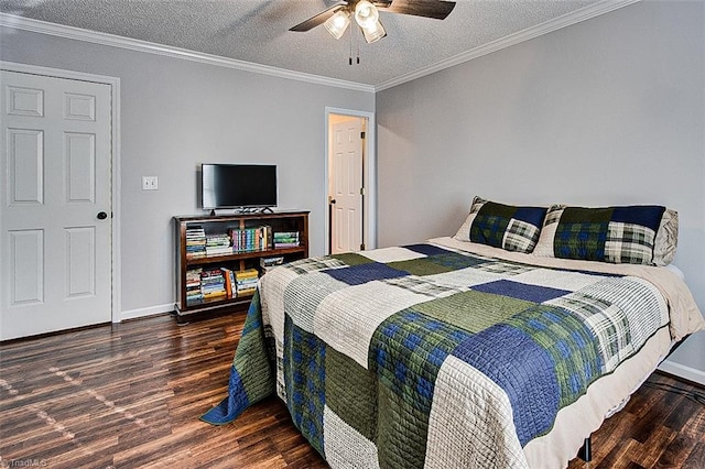
<path fill-rule="evenodd" d="M 535 26 L 527 28 L 525 30 L 519 31 L 517 33 L 513 33 L 508 36 L 501 37 L 499 40 L 484 44 L 479 47 L 475 47 L 470 51 L 446 58 L 430 67 L 421 68 L 410 74 L 402 75 L 389 81 L 379 84 L 375 86 L 375 91 L 376 92 L 381 91 L 383 89 L 392 88 L 394 86 L 404 84 L 406 81 L 411 81 L 416 78 L 421 78 L 426 75 L 441 72 L 443 69 L 453 67 L 455 65 L 459 65 L 465 62 L 471 61 L 474 58 L 481 57 L 482 55 L 491 54 L 492 52 L 497 52 L 502 48 L 522 43 L 524 41 L 532 40 L 540 35 L 551 33 L 562 28 L 566 28 L 572 24 L 579 23 L 581 21 L 589 20 L 590 18 L 609 13 L 610 11 L 630 6 L 638 1 L 640 0 L 603 0 L 600 2 L 593 3 L 588 7 L 582 8 L 571 13 L 566 13 L 562 17 L 555 18 L 553 20 L 549 20 Z"/>

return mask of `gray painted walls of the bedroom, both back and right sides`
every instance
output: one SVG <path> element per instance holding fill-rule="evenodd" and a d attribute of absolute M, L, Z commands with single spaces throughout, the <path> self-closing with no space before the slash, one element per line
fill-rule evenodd
<path fill-rule="evenodd" d="M 664 204 L 680 212 L 675 263 L 705 309 L 704 10 L 642 1 L 377 97 L 10 29 L 0 58 L 121 79 L 128 316 L 174 301 L 171 217 L 198 212 L 202 162 L 278 164 L 281 205 L 312 210 L 323 253 L 324 108 L 373 111 L 376 98 L 379 246 L 453 234 L 475 194 Z M 142 192 L 143 175 L 160 189 Z M 674 359 L 705 370 L 705 339 L 693 339 Z"/>

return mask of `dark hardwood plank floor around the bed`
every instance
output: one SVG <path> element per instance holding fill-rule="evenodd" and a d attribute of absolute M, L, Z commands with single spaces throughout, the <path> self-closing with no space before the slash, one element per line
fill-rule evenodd
<path fill-rule="evenodd" d="M 0 468 L 327 467 L 274 397 L 235 424 L 198 419 L 226 395 L 243 317 L 159 316 L 0 345 Z M 646 385 L 593 436 L 593 461 L 570 463 L 665 467 L 705 468 L 705 408 Z"/>

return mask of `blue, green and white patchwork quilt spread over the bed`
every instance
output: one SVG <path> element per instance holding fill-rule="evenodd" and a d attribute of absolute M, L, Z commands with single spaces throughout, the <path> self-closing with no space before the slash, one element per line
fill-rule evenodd
<path fill-rule="evenodd" d="M 527 467 L 523 446 L 669 324 L 646 280 L 434 243 L 312 258 L 261 279 L 229 395 L 268 395 L 333 467 Z"/>

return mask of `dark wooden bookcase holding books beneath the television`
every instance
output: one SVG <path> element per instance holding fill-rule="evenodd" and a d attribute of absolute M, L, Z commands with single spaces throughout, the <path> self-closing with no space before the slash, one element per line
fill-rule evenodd
<path fill-rule="evenodd" d="M 278 211 L 278 212 L 246 212 L 235 215 L 216 216 L 176 216 L 174 217 L 176 228 L 176 318 L 183 323 L 186 316 L 196 313 L 207 312 L 230 312 L 247 309 L 252 292 L 245 291 L 238 294 L 237 274 L 252 272 L 252 269 L 260 269 L 260 260 L 267 258 L 282 258 L 283 262 L 291 262 L 308 257 L 308 211 Z M 268 227 L 268 228 L 262 228 Z M 191 233 L 202 231 L 204 239 L 195 242 L 203 246 L 206 238 L 215 238 L 218 234 L 229 234 L 238 230 L 249 230 L 247 247 L 250 250 L 235 249 L 227 253 L 205 254 L 204 252 L 192 252 L 195 249 Z M 187 231 L 189 233 L 187 239 Z M 269 234 L 269 240 L 261 234 Z M 295 232 L 297 233 L 297 246 L 286 246 L 276 248 L 273 240 L 274 233 Z M 254 246 L 253 237 L 260 240 Z M 245 240 L 245 239 L 242 239 Z M 232 240 L 230 244 L 234 243 Z M 232 249 L 232 248 L 231 248 Z M 194 287 L 194 277 L 198 277 L 203 272 L 223 271 L 224 279 L 228 276 L 228 271 L 234 272 L 235 284 L 230 285 L 228 293 L 221 296 L 219 293 L 206 297 L 204 286 L 206 281 L 202 281 L 200 286 Z M 261 273 L 260 273 L 261 275 Z M 196 282 L 198 283 L 198 282 Z M 224 286 L 225 287 L 225 286 Z M 197 292 L 194 292 L 194 288 Z M 191 293 L 189 293 L 191 292 Z M 193 296 L 193 295 L 196 296 Z M 202 297 L 198 297 L 198 295 Z"/>

